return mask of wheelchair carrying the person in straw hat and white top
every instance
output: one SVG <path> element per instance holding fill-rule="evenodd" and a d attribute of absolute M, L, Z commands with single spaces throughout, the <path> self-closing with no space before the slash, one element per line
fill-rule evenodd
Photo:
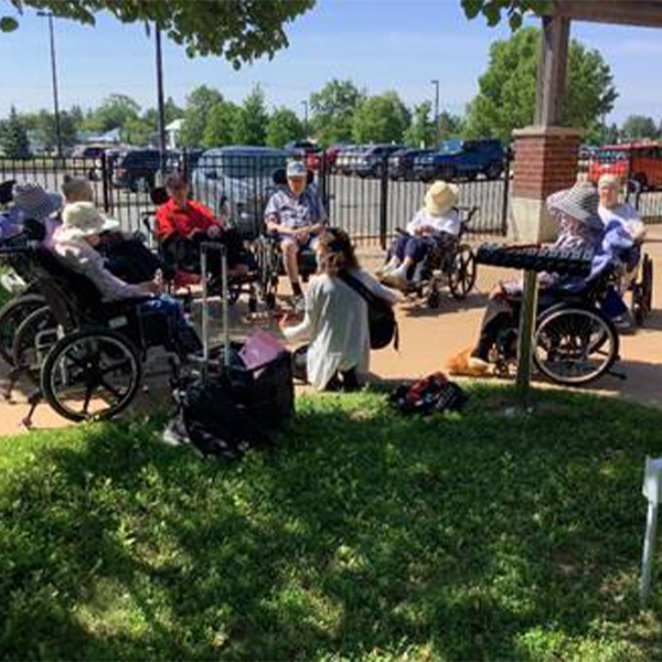
<path fill-rule="evenodd" d="M 448 287 L 457 301 L 466 299 L 476 285 L 478 267 L 473 248 L 462 242 L 467 226 L 479 207 L 455 207 L 461 216 L 460 233 L 451 245 L 437 243 L 416 265 L 416 276 L 407 286 L 407 295 L 425 299 L 429 308 L 439 308 L 441 290 Z M 398 234 L 405 231 L 397 228 Z"/>

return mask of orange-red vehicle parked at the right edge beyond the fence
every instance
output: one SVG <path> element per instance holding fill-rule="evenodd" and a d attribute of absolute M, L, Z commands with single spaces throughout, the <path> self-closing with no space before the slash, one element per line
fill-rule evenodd
<path fill-rule="evenodd" d="M 588 173 L 594 183 L 602 174 L 616 174 L 623 181 L 634 180 L 642 190 L 662 188 L 662 143 L 607 145 L 591 160 Z"/>

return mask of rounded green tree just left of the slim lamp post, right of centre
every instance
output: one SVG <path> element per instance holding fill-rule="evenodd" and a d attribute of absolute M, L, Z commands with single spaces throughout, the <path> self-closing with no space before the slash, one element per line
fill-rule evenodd
<path fill-rule="evenodd" d="M 402 142 L 409 126 L 409 111 L 395 92 L 372 96 L 361 103 L 352 119 L 356 142 Z"/>

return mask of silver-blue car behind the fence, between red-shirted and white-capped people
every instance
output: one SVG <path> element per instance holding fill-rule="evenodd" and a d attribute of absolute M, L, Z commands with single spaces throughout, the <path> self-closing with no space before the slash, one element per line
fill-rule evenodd
<path fill-rule="evenodd" d="M 275 191 L 274 173 L 289 152 L 270 147 L 223 147 L 205 151 L 191 182 L 194 195 L 214 213 L 227 216 L 246 236 L 263 226 L 263 213 Z"/>

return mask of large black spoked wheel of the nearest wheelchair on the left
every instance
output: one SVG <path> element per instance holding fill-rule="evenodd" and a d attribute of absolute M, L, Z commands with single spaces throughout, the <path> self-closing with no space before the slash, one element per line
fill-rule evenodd
<path fill-rule="evenodd" d="M 49 353 L 41 388 L 51 407 L 68 420 L 111 418 L 131 403 L 142 378 L 136 348 L 107 329 L 77 331 Z"/>

